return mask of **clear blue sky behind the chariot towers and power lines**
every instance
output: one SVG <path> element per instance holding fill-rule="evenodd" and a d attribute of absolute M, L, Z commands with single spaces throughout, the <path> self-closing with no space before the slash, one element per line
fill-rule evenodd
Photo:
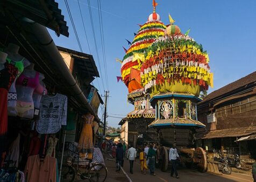
<path fill-rule="evenodd" d="M 189 35 L 198 43 L 203 45 L 210 57 L 211 71 L 214 72 L 214 89 L 209 89 L 208 93 L 221 88 L 232 81 L 235 81 L 256 70 L 256 1 L 255 0 L 156 0 L 157 13 L 160 14 L 161 21 L 168 24 L 168 13 L 171 14 L 175 25 L 185 33 L 191 28 Z M 49 31 L 56 45 L 80 51 L 68 12 L 63 0 L 56 0 L 59 8 L 65 16 L 69 26 L 69 37 L 57 37 L 53 31 Z M 106 90 L 106 79 L 104 77 L 104 64 L 101 49 L 101 35 L 99 32 L 99 18 L 97 1 L 90 1 L 91 12 L 99 60 L 96 56 L 96 49 L 93 39 L 93 32 L 90 23 L 88 3 L 80 0 L 82 16 L 86 25 L 86 32 L 90 44 L 91 54 L 94 56 L 96 65 L 101 65 L 101 78 L 94 85 L 101 94 Z M 74 24 L 83 48 L 83 52 L 89 54 L 82 20 L 79 13 L 77 0 L 68 0 Z M 108 113 L 113 116 L 126 115 L 133 110 L 133 105 L 127 103 L 127 88 L 123 82 L 117 83 L 116 76 L 120 75 L 120 64 L 116 58 L 122 59 L 125 52 L 122 48 L 129 48 L 126 40 L 133 40 L 133 32 L 137 32 L 139 26 L 144 24 L 147 17 L 152 13 L 152 0 L 101 0 L 103 30 L 106 52 L 106 67 L 108 72 L 108 83 L 110 98 L 108 102 Z M 102 86 L 104 82 L 105 88 Z M 98 85 L 99 83 L 99 85 Z M 102 109 L 99 109 L 99 117 Z M 121 116 L 117 116 L 121 117 Z M 118 127 L 119 118 L 108 117 L 108 124 Z"/>

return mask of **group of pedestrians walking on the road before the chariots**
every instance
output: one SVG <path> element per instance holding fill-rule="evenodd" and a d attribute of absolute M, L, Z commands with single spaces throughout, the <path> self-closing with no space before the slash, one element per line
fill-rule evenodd
<path fill-rule="evenodd" d="M 117 144 L 116 148 L 116 166 L 117 166 L 117 172 L 120 171 L 120 167 L 124 165 L 124 157 L 126 153 L 126 146 L 122 145 L 122 143 Z M 136 161 L 137 157 L 137 150 L 130 145 L 129 149 L 127 150 L 126 158 L 129 160 L 130 163 L 130 173 L 133 174 L 133 163 Z M 175 174 L 176 178 L 179 178 L 176 164 L 177 160 L 180 160 L 179 154 L 177 153 L 176 145 L 173 144 L 172 148 L 169 150 L 169 161 L 172 163 L 172 169 L 170 171 L 170 176 L 173 177 Z M 150 169 L 150 174 L 155 176 L 155 163 L 157 161 L 157 146 L 153 145 L 153 143 L 150 144 L 150 147 L 148 145 L 145 145 L 145 148 L 142 148 L 139 154 L 139 161 L 140 161 L 140 170 L 141 173 L 146 175 L 146 170 Z"/>

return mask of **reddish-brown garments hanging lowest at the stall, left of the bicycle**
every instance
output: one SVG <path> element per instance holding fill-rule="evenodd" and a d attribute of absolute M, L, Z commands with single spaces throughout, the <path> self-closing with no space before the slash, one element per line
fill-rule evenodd
<path fill-rule="evenodd" d="M 27 159 L 25 178 L 27 182 L 56 182 L 56 158 L 46 156 L 40 162 L 39 155 L 32 155 Z"/>

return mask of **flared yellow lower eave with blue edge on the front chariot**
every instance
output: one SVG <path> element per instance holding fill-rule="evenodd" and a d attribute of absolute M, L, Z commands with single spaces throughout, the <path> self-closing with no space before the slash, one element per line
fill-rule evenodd
<path fill-rule="evenodd" d="M 158 127 L 158 126 L 196 126 L 196 127 L 205 127 L 204 124 L 198 122 L 197 120 L 193 119 L 157 119 L 154 120 L 149 127 Z"/>

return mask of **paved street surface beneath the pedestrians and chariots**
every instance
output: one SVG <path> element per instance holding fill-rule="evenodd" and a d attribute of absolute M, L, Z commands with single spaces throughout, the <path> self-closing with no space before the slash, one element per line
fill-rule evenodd
<path fill-rule="evenodd" d="M 115 160 L 109 155 L 104 154 L 105 158 L 105 164 L 108 168 L 108 177 L 106 181 L 129 181 L 127 177 L 125 177 L 123 172 L 116 172 L 116 165 Z M 112 159 L 112 160 L 111 160 Z M 151 176 L 149 172 L 147 171 L 146 175 L 141 174 L 140 172 L 140 165 L 139 161 L 136 160 L 134 162 L 133 166 L 133 174 L 130 174 L 129 172 L 129 161 L 124 160 L 124 171 L 126 172 L 127 176 L 132 181 L 154 181 L 154 182 L 162 182 L 162 181 L 207 181 L 207 182 L 216 182 L 216 181 L 225 181 L 225 182 L 231 182 L 231 181 L 239 181 L 239 182 L 248 182 L 253 181 L 253 178 L 248 175 L 243 175 L 239 173 L 232 172 L 231 175 L 214 175 L 208 172 L 201 173 L 198 172 L 196 169 L 186 169 L 186 168 L 178 168 L 178 173 L 180 178 L 171 178 L 170 177 L 170 169 L 168 169 L 168 172 L 162 172 L 160 169 L 156 169 L 155 173 L 156 176 Z"/>

